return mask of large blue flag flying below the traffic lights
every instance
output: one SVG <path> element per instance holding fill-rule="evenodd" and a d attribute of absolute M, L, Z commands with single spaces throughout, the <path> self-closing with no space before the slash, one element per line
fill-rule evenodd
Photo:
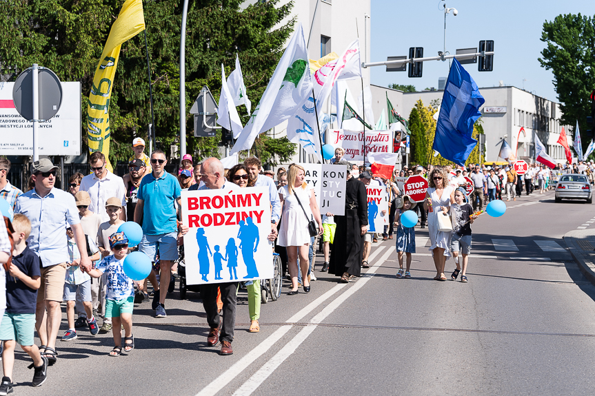
<path fill-rule="evenodd" d="M 443 158 L 464 166 L 477 144 L 472 138 L 473 124 L 481 116 L 478 109 L 485 99 L 461 63 L 456 59 L 453 61 L 444 87 L 432 148 Z"/>

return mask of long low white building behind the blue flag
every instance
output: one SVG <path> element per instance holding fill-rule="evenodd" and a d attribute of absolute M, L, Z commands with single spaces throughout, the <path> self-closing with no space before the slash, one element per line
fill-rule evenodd
<path fill-rule="evenodd" d="M 572 130 L 567 125 L 560 124 L 562 112 L 558 103 L 512 86 L 485 87 L 479 91 L 485 98 L 480 111 L 487 163 L 503 161 L 503 158 L 498 157 L 502 141 L 505 139 L 514 151 L 517 137 L 518 158 L 533 160 L 534 136 L 538 136 L 554 160 L 565 162 L 564 148 L 557 141 L 564 127 L 568 143 L 572 145 Z M 409 118 L 412 108 L 420 98 L 427 106 L 433 100 L 442 100 L 443 94 L 443 90 L 405 93 L 401 115 Z M 525 134 L 521 132 L 519 136 L 521 127 Z"/>

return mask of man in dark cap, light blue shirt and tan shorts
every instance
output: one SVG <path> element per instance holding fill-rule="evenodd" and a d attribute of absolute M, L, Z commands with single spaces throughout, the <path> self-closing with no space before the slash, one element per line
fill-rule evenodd
<path fill-rule="evenodd" d="M 58 167 L 47 158 L 35 161 L 31 172 L 35 187 L 19 196 L 15 207 L 16 213 L 23 213 L 30 220 L 28 246 L 41 258 L 35 327 L 41 344 L 46 346 L 42 353 L 50 364 L 55 363 L 57 358 L 56 336 L 62 320 L 60 303 L 64 293 L 66 262 L 70 260 L 65 232 L 69 225 L 81 255 L 81 270 L 86 272 L 92 268 L 74 197 L 54 187 L 57 172 Z"/>

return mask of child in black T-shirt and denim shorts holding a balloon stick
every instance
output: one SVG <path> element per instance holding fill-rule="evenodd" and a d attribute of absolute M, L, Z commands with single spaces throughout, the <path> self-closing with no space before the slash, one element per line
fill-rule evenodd
<path fill-rule="evenodd" d="M 452 216 L 452 238 L 450 241 L 450 251 L 456 269 L 450 275 L 452 280 L 456 280 L 458 273 L 461 273 L 461 282 L 467 282 L 467 264 L 469 262 L 469 253 L 471 253 L 471 225 L 477 215 L 473 214 L 473 208 L 465 202 L 465 194 L 461 189 L 454 191 L 454 204 L 450 206 Z M 461 259 L 458 253 L 463 255 L 461 270 Z"/>

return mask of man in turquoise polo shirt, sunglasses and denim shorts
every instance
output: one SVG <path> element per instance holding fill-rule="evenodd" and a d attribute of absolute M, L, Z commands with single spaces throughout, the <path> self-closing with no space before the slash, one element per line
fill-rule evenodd
<path fill-rule="evenodd" d="M 154 291 L 153 309 L 155 317 L 166 317 L 165 296 L 170 285 L 172 264 L 178 258 L 178 231 L 188 232 L 188 227 L 178 227 L 174 201 L 180 206 L 181 188 L 178 179 L 165 171 L 165 154 L 155 150 L 151 154 L 152 172 L 141 180 L 137 194 L 137 207 L 134 208 L 134 221 L 143 227 L 143 239 L 139 244 L 142 251 L 151 260 L 155 260 L 159 251 L 159 290 Z"/>

